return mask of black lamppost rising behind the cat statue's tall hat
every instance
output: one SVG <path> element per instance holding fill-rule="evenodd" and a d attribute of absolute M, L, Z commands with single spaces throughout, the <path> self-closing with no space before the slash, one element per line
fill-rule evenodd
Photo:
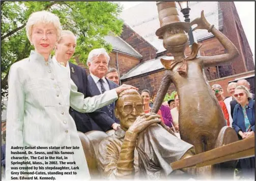
<path fill-rule="evenodd" d="M 189 2 L 188 1 L 178 1 L 178 3 L 180 5 L 181 12 L 184 15 L 185 22 L 190 23 L 190 18 L 189 18 L 190 8 L 188 7 Z M 189 45 L 192 46 L 192 44 L 194 43 L 194 37 L 193 37 L 191 26 L 188 31 L 188 37 L 189 37 Z"/>

